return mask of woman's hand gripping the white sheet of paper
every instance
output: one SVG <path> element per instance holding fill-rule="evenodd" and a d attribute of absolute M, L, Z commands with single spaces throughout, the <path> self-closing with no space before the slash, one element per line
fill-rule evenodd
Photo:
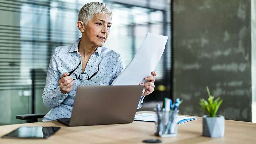
<path fill-rule="evenodd" d="M 154 91 L 154 88 L 155 88 L 155 76 L 156 76 L 156 72 L 155 71 L 152 71 L 151 72 L 153 76 L 148 76 L 148 77 L 145 77 L 144 79 L 149 81 L 149 82 L 145 82 L 145 83 L 141 83 L 140 85 L 143 85 L 144 88 L 146 89 L 144 93 L 142 93 L 142 96 L 143 95 L 149 95 L 150 93 L 152 93 Z"/>

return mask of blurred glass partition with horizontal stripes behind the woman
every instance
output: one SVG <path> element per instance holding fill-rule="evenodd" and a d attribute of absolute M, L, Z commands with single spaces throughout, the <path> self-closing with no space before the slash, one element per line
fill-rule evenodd
<path fill-rule="evenodd" d="M 0 125 L 17 124 L 16 115 L 47 113 L 42 92 L 56 46 L 81 37 L 77 14 L 86 0 L 0 0 Z M 155 91 L 144 103 L 171 97 L 171 24 L 168 0 L 104 0 L 113 12 L 104 45 L 121 53 L 126 65 L 147 32 L 169 36 L 156 68 Z"/>

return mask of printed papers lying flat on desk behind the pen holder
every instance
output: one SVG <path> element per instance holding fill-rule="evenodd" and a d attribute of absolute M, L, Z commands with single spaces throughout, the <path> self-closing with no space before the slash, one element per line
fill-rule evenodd
<path fill-rule="evenodd" d="M 174 121 L 177 122 L 177 124 L 183 124 L 184 122 L 195 120 L 195 119 L 197 118 L 176 115 Z M 153 114 L 151 113 L 137 114 L 135 115 L 134 120 L 155 122 L 157 120 L 157 115 L 154 113 Z"/>

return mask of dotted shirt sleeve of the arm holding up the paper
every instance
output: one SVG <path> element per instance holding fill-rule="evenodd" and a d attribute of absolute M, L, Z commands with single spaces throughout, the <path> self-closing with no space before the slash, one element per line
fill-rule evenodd
<path fill-rule="evenodd" d="M 116 66 L 114 68 L 114 74 L 113 74 L 113 80 L 112 82 L 117 78 L 117 76 L 119 76 L 119 74 L 121 74 L 121 72 L 125 69 L 125 65 L 124 62 L 122 60 L 122 56 L 119 54 L 117 57 L 117 62 L 116 62 Z M 142 107 L 142 103 L 143 103 L 143 99 L 145 96 L 141 96 L 140 97 L 140 101 L 138 104 L 137 109 Z"/>

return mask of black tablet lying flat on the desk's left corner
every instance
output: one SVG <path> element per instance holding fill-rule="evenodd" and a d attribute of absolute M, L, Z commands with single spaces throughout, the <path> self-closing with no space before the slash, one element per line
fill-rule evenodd
<path fill-rule="evenodd" d="M 60 127 L 22 126 L 3 135 L 2 138 L 48 138 L 59 129 Z"/>

